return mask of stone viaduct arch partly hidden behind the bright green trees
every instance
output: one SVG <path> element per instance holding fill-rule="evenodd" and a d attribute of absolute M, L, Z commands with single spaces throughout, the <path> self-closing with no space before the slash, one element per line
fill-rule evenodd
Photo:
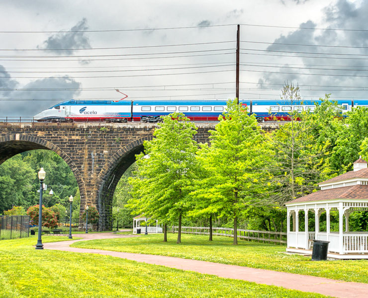
<path fill-rule="evenodd" d="M 116 185 L 124 172 L 135 162 L 135 155 L 143 152 L 143 143 L 152 139 L 153 135 L 149 135 L 125 145 L 116 151 L 101 169 L 96 181 L 96 184 L 99 185 L 97 208 L 100 212 L 100 219 L 98 229 L 112 228 L 112 198 Z"/>

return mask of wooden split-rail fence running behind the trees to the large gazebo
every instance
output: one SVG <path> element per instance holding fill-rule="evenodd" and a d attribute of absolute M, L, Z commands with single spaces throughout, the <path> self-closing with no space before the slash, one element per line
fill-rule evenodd
<path fill-rule="evenodd" d="M 178 226 L 173 226 L 173 232 L 178 232 Z M 182 226 L 184 234 L 209 235 L 207 226 Z M 239 239 L 246 241 L 286 244 L 286 232 L 258 231 L 248 229 L 237 229 Z M 234 237 L 234 229 L 229 227 L 212 227 L 212 235 Z"/>

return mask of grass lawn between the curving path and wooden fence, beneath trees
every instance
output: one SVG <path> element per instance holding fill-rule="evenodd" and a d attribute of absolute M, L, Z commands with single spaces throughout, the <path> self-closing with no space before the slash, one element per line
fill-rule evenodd
<path fill-rule="evenodd" d="M 75 247 L 158 254 L 223 264 L 233 264 L 289 273 L 306 274 L 337 280 L 368 283 L 367 260 L 311 261 L 311 257 L 284 254 L 285 246 L 238 240 L 232 238 L 182 234 L 182 243 L 176 244 L 177 234 L 142 235 L 133 238 L 89 240 L 73 244 Z"/>

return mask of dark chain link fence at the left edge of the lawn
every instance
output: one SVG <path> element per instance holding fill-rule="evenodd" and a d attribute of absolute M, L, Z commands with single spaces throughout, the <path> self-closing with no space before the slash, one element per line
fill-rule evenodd
<path fill-rule="evenodd" d="M 29 237 L 28 215 L 1 215 L 0 240 Z"/>

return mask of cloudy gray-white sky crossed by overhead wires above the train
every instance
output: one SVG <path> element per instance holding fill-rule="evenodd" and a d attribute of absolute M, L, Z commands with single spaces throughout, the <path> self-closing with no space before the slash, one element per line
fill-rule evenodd
<path fill-rule="evenodd" d="M 138 4 L 137 4 L 138 3 Z M 0 117 L 66 99 L 367 98 L 368 0 L 1 0 Z M 338 30 L 336 30 L 338 29 Z"/>

